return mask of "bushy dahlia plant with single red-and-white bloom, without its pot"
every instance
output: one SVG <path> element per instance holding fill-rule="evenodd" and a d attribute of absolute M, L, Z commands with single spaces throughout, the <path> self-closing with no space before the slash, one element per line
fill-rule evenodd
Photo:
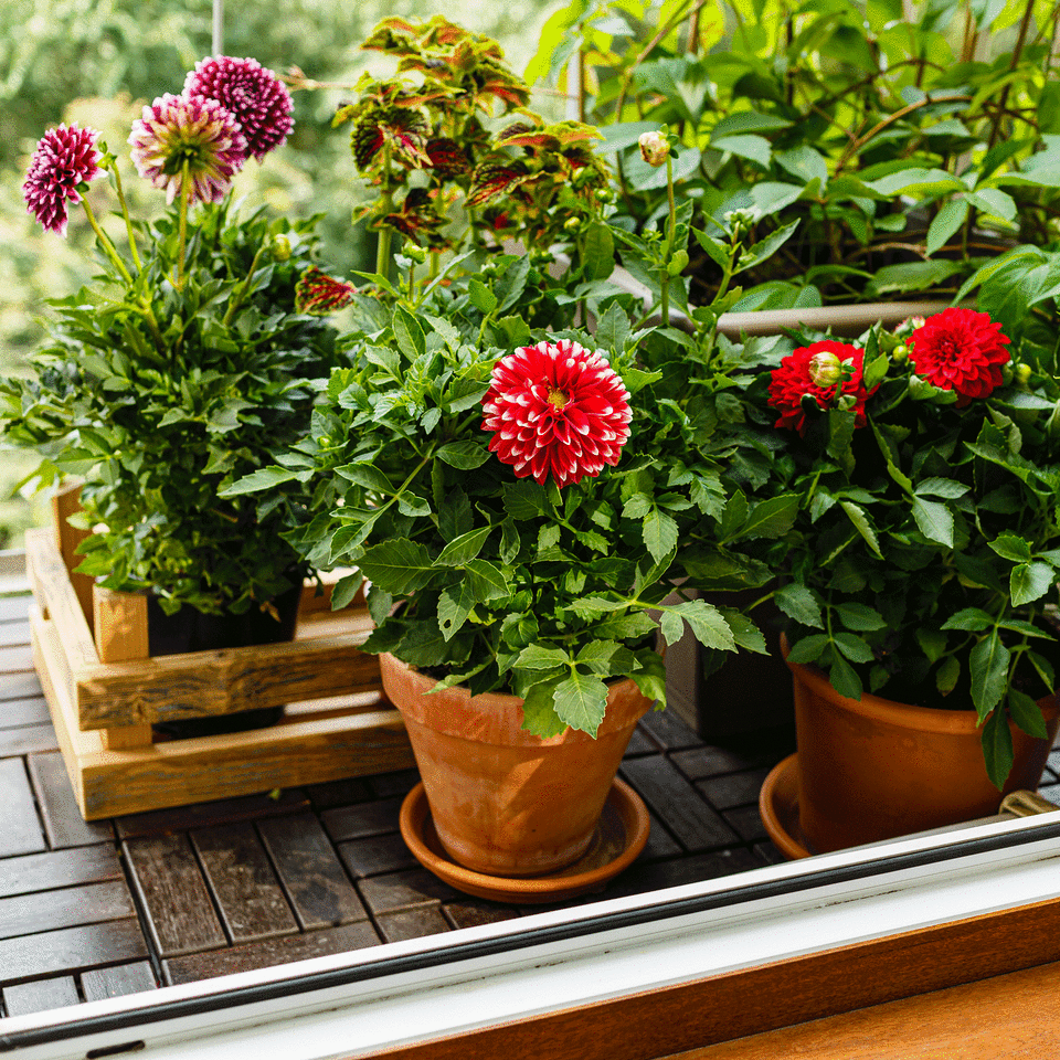
<path fill-rule="evenodd" d="M 477 274 L 484 305 L 519 300 L 513 268 Z M 517 695 L 542 736 L 595 734 L 613 679 L 664 704 L 659 633 L 764 650 L 739 612 L 691 593 L 762 584 L 741 542 L 791 522 L 784 502 L 727 505 L 739 357 L 636 330 L 618 300 L 590 336 L 476 326 L 441 288 L 417 299 L 347 336 L 353 367 L 332 374 L 310 436 L 226 490 L 314 489 L 288 538 L 315 566 L 358 569 L 338 604 L 367 580 L 363 649 Z"/>

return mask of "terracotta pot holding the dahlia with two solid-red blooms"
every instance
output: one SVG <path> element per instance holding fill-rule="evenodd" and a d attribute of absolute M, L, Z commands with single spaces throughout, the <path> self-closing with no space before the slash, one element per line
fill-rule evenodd
<path fill-rule="evenodd" d="M 1008 792 L 1038 787 L 1060 725 L 1053 693 L 1038 701 L 1048 740 L 1011 727 L 1016 761 L 998 792 L 986 775 L 974 710 L 912 707 L 868 692 L 848 699 L 816 667 L 787 665 L 799 826 L 818 854 L 996 814 Z"/>

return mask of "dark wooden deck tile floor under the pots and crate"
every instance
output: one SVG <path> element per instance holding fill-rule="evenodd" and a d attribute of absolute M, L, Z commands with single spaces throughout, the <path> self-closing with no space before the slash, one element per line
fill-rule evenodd
<path fill-rule="evenodd" d="M 0 597 L 0 1016 L 540 909 L 467 898 L 417 865 L 398 831 L 413 771 L 85 824 L 33 672 L 29 601 Z M 780 860 L 756 798 L 789 750 L 708 746 L 672 712 L 649 714 L 623 775 L 651 838 L 580 901 Z M 1054 754 L 1047 784 L 1058 767 Z"/>

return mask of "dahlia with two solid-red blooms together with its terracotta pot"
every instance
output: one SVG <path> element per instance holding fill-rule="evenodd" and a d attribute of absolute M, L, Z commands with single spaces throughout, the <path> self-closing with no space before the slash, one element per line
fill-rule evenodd
<path fill-rule="evenodd" d="M 766 490 L 797 501 L 760 558 L 783 581 L 817 851 L 995 813 L 1040 778 L 1060 721 L 1060 385 L 1056 344 L 1010 335 L 948 308 L 802 343 L 748 391 Z"/>

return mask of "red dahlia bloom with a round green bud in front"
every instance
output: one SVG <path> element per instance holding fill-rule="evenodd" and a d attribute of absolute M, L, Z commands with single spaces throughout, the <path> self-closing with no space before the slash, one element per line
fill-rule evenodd
<path fill-rule="evenodd" d="M 773 369 L 770 404 L 781 414 L 774 426 L 805 434 L 803 398 L 808 394 L 822 410 L 836 406 L 840 398 L 852 398 L 855 426 L 863 427 L 869 396 L 861 379 L 863 361 L 865 350 L 831 339 L 794 350 Z"/>

